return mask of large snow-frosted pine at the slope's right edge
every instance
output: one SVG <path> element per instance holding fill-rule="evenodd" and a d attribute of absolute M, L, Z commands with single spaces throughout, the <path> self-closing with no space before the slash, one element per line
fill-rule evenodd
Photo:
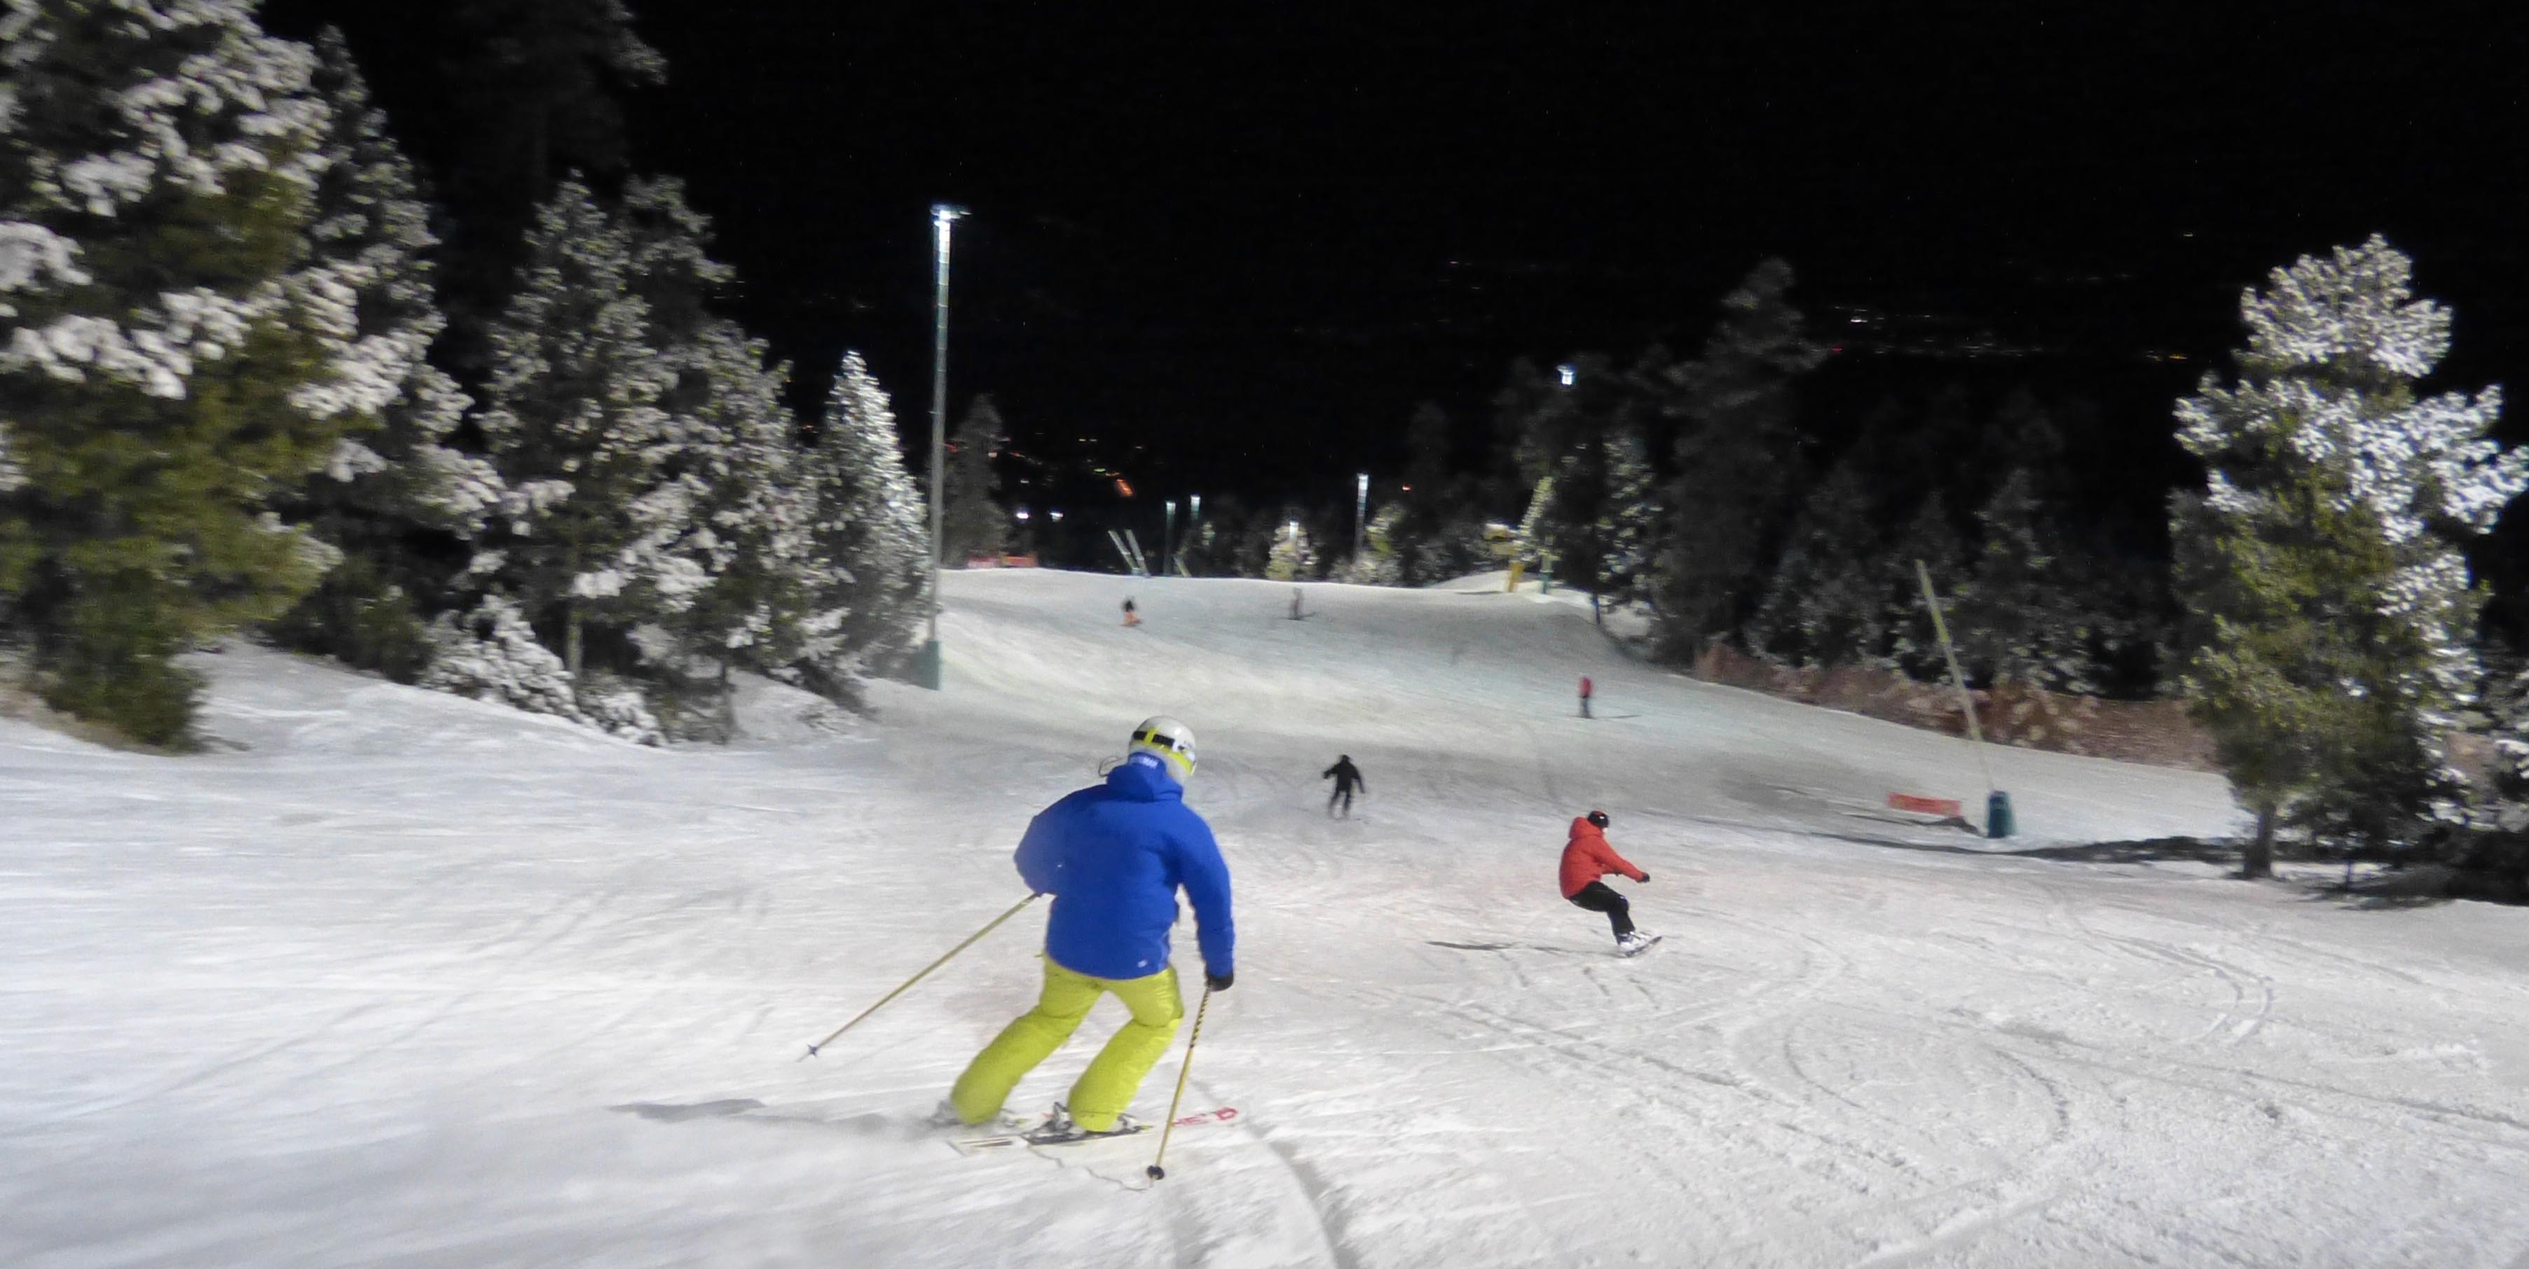
<path fill-rule="evenodd" d="M 2279 824 L 2397 847 L 2435 811 L 2476 680 L 2458 543 L 2529 488 L 2529 460 L 2486 437 L 2496 389 L 2418 397 L 2451 313 L 2377 235 L 2274 270 L 2241 321 L 2236 384 L 2208 374 L 2177 402 L 2205 490 L 2172 498 L 2172 538 L 2188 695 L 2258 817 L 2256 877 Z"/>

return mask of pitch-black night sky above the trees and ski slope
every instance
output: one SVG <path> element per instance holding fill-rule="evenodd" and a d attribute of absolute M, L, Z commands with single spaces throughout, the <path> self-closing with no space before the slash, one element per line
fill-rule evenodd
<path fill-rule="evenodd" d="M 1818 410 L 2028 382 L 2162 465 L 2238 288 L 2372 230 L 2458 311 L 2448 382 L 2529 379 L 2509 28 L 2352 3 L 632 8 L 670 61 L 630 101 L 635 167 L 718 217 L 733 316 L 799 364 L 802 404 L 857 346 L 926 415 L 926 207 L 961 202 L 951 399 L 991 392 L 1022 447 L 1146 445 L 1123 465 L 1153 493 L 1343 501 L 1356 468 L 1401 468 L 1419 399 L 1472 455 L 1512 356 L 1694 349 L 1763 255 L 1826 339 L 1866 306 L 2028 349 L 1846 356 Z M 268 20 L 346 25 L 445 162 L 430 10 Z M 2170 351 L 2190 361 L 2147 356 Z"/>

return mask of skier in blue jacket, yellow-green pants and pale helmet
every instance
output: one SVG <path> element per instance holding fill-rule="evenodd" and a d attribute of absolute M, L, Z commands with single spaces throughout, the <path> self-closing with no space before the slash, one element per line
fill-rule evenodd
<path fill-rule="evenodd" d="M 1186 1016 L 1168 966 L 1176 890 L 1194 900 L 1204 950 L 1204 991 L 1229 991 L 1237 930 L 1229 920 L 1229 867 L 1211 827 L 1184 796 L 1194 779 L 1194 731 L 1173 718 L 1133 728 L 1123 763 L 1105 784 L 1055 801 L 1019 839 L 1019 877 L 1055 897 L 1044 923 L 1044 991 L 1037 1006 L 974 1054 L 941 1105 L 941 1117 L 979 1125 L 1001 1112 L 1009 1090 L 1052 1057 L 1113 991 L 1130 1009 L 1115 1039 L 1055 1105 L 1034 1138 L 1138 1132 L 1123 1110 L 1176 1039 Z"/>

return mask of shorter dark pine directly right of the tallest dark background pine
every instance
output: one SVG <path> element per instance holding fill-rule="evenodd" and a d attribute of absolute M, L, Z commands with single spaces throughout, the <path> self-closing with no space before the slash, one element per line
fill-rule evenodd
<path fill-rule="evenodd" d="M 1836 463 L 1808 490 L 1765 602 L 1748 624 L 1753 652 L 1791 665 L 1851 665 L 1879 657 L 1889 584 L 1879 574 L 1871 490 L 1854 463 Z M 1907 566 L 1912 579 L 1912 564 Z"/>

